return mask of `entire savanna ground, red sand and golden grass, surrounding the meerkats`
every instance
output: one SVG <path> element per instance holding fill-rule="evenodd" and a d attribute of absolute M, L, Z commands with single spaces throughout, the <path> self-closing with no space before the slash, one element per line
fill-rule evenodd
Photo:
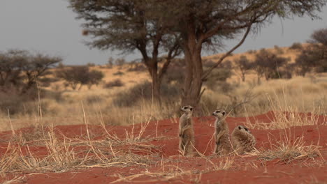
<path fill-rule="evenodd" d="M 294 60 L 296 51 L 282 49 Z M 224 85 L 208 82 L 194 117 L 202 156 L 184 158 L 177 151 L 180 104 L 170 86 L 159 107 L 143 85 L 145 70 L 93 68 L 106 72 L 104 84 L 120 84 L 72 91 L 59 81 L 34 101 L 16 102 L 15 114 L 2 112 L 1 183 L 327 182 L 326 73 L 257 84 L 249 72 L 245 82 L 235 74 Z M 233 109 L 230 130 L 247 126 L 255 151 L 212 156 L 217 107 Z"/>

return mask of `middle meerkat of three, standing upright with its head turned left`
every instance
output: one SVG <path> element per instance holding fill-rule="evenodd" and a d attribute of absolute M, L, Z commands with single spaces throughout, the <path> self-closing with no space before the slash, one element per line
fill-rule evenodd
<path fill-rule="evenodd" d="M 216 117 L 215 121 L 215 150 L 218 155 L 226 155 L 231 153 L 231 141 L 229 139 L 229 129 L 226 123 L 226 112 L 224 110 L 216 110 L 212 113 Z"/>

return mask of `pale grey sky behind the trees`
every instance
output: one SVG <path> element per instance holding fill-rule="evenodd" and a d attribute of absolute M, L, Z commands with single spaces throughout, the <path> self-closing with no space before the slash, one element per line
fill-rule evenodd
<path fill-rule="evenodd" d="M 87 38 L 82 36 L 82 20 L 75 20 L 76 14 L 67 6 L 68 0 L 0 0 L 0 52 L 27 49 L 63 56 L 64 64 L 78 65 L 104 64 L 110 56 L 127 61 L 140 58 L 138 52 L 119 55 L 119 51 L 89 49 L 83 43 Z M 260 33 L 248 36 L 236 52 L 305 42 L 312 31 L 327 27 L 326 6 L 319 16 L 321 20 L 314 21 L 309 17 L 275 18 L 273 24 L 263 27 Z M 226 42 L 226 49 L 233 44 L 235 41 Z"/>

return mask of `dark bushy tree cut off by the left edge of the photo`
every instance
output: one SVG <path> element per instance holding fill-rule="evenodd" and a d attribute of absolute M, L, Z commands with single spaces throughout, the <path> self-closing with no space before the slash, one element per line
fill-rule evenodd
<path fill-rule="evenodd" d="M 49 82 L 49 69 L 61 62 L 57 56 L 31 54 L 26 50 L 12 49 L 0 53 L 0 86 L 14 86 L 20 93 L 27 93 L 36 82 Z"/>

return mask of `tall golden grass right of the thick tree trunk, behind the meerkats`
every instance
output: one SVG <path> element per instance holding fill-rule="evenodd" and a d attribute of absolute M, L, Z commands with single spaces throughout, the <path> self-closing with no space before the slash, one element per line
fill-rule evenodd
<path fill-rule="evenodd" d="M 326 77 L 320 77 L 317 80 L 319 82 L 313 83 L 310 78 L 294 77 L 289 80 L 270 80 L 259 86 L 242 83 L 234 86 L 233 90 L 228 93 L 217 89 L 214 91 L 207 89 L 201 98 L 201 104 L 204 114 L 207 113 L 207 115 L 212 109 L 231 109 L 234 101 L 236 101 L 235 104 L 242 102 L 248 90 L 252 89 L 252 95 L 256 98 L 243 104 L 238 113 L 232 113 L 232 116 L 254 116 L 269 111 L 327 114 Z"/>

